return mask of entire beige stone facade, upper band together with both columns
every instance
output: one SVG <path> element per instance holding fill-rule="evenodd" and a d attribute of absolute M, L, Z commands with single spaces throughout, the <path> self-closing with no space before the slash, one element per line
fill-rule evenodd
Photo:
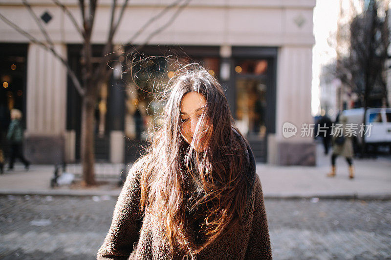
<path fill-rule="evenodd" d="M 63 0 L 79 24 L 76 0 Z M 119 1 L 119 4 L 122 1 Z M 127 43 L 132 35 L 172 0 L 131 0 L 115 37 L 116 44 Z M 30 0 L 38 16 L 52 16 L 44 27 L 56 49 L 66 57 L 67 43 L 81 43 L 69 18 L 46 0 Z M 109 29 L 110 0 L 101 0 L 92 40 L 103 43 Z M 312 15 L 315 0 L 193 0 L 176 20 L 149 42 L 166 45 L 217 45 L 279 47 L 277 69 L 276 134 L 270 136 L 268 161 L 281 158 L 281 143 L 311 143 L 311 138 L 284 139 L 282 124 L 290 121 L 300 131 L 311 123 Z M 38 26 L 26 8 L 13 0 L 3 0 L 0 12 L 35 37 L 43 40 Z M 149 26 L 133 43 L 144 43 L 157 27 L 172 17 L 174 10 Z M 0 42 L 28 42 L 0 21 Z M 27 136 L 62 136 L 65 133 L 66 72 L 58 60 L 36 44 L 30 44 L 27 68 Z M 69 138 L 68 138 L 69 139 Z M 70 138 L 66 143 L 73 142 Z M 112 139 L 117 140 L 117 135 Z M 122 145 L 122 144 L 121 144 Z M 67 147 L 67 146 L 66 146 Z M 280 148 L 279 148 L 280 147 Z M 290 149 L 292 146 L 289 146 Z M 302 149 L 297 146 L 299 149 Z M 279 150 L 280 149 L 280 150 Z M 113 149 L 112 149 L 113 151 Z M 293 151 L 293 150 L 292 150 Z M 71 153 L 65 153 L 72 158 Z M 117 156 L 113 156 L 114 160 Z"/>

